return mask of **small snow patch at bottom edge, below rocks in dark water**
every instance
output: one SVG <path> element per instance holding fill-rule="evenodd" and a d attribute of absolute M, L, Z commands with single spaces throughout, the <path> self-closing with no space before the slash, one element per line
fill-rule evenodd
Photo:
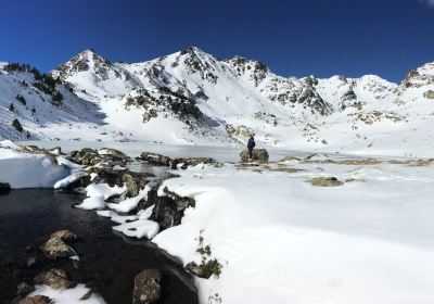
<path fill-rule="evenodd" d="M 80 300 L 87 292 L 90 291 L 85 284 L 77 284 L 75 288 L 59 291 L 54 290 L 49 286 L 36 286 L 29 296 L 33 295 L 46 295 L 54 301 L 56 304 L 71 304 L 71 303 L 82 303 L 82 304 L 105 304 L 105 301 L 98 294 L 92 293 L 88 300 Z"/>

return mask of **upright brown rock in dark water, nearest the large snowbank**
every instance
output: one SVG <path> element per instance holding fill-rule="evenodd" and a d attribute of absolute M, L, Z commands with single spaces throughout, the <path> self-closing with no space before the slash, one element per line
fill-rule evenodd
<path fill-rule="evenodd" d="M 159 299 L 162 274 L 157 269 L 145 269 L 135 278 L 133 304 L 155 303 Z"/>

